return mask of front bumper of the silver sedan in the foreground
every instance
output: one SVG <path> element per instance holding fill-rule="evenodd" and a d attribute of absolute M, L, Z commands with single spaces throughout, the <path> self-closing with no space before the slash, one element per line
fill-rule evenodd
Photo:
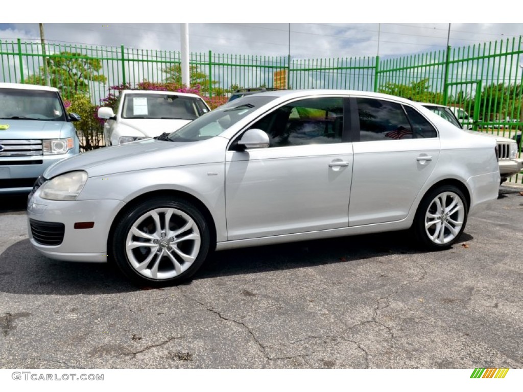
<path fill-rule="evenodd" d="M 44 256 L 56 260 L 107 262 L 107 239 L 111 224 L 125 205 L 111 199 L 54 201 L 32 194 L 27 206 L 27 227 L 32 246 Z M 33 227 L 31 227 L 31 222 Z M 63 224 L 63 240 L 59 245 L 43 245 L 32 230 L 52 224 Z M 94 222 L 92 228 L 74 228 L 78 222 Z M 47 224 L 47 225 L 46 225 Z M 55 225 L 56 226 L 56 225 Z M 36 239 L 35 239 L 36 237 Z M 40 240 L 41 241 L 41 240 Z"/>

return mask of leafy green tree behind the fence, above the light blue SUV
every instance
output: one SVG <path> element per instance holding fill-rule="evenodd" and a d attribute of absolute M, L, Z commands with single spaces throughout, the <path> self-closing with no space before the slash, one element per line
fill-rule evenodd
<path fill-rule="evenodd" d="M 72 99 L 76 94 L 87 94 L 89 82 L 105 83 L 107 78 L 99 74 L 102 63 L 89 59 L 81 53 L 61 52 L 47 58 L 49 80 L 52 87 L 58 88 L 62 97 Z M 44 85 L 43 67 L 40 74 L 29 75 L 24 83 Z"/>

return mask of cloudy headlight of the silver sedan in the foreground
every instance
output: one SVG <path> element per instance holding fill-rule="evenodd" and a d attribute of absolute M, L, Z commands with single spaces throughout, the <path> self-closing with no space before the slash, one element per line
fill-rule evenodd
<path fill-rule="evenodd" d="M 71 171 L 56 176 L 40 187 L 40 197 L 48 200 L 76 200 L 86 181 L 85 171 Z"/>

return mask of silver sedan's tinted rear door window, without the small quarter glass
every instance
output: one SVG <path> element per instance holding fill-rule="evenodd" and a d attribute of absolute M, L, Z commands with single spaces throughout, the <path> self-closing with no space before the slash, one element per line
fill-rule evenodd
<path fill-rule="evenodd" d="M 411 124 L 399 103 L 357 98 L 360 141 L 412 139 Z"/>

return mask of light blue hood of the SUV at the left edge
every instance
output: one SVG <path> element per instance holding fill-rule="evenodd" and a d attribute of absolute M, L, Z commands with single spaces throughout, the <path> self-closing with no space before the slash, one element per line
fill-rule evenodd
<path fill-rule="evenodd" d="M 0 140 L 58 139 L 62 137 L 64 121 L 2 120 Z"/>

